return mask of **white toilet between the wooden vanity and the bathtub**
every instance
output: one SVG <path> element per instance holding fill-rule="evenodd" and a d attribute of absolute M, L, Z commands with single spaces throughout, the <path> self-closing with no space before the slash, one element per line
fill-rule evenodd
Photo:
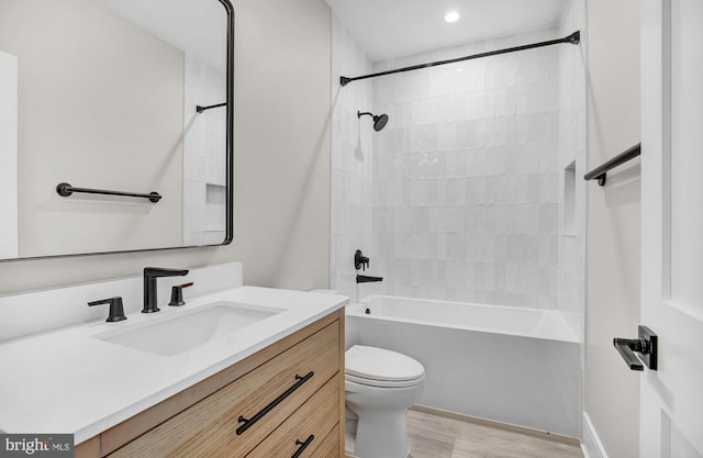
<path fill-rule="evenodd" d="M 422 394 L 425 368 L 400 353 L 362 345 L 346 351 L 345 366 L 347 455 L 406 458 L 405 411 Z"/>

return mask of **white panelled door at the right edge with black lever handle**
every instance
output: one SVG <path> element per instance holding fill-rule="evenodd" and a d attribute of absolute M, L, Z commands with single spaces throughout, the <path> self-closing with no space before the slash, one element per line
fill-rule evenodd
<path fill-rule="evenodd" d="M 640 4 L 640 457 L 703 458 L 703 0 Z"/>

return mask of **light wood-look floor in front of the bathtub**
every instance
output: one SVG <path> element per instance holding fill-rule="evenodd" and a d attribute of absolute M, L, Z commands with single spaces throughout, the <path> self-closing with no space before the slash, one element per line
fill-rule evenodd
<path fill-rule="evenodd" d="M 583 458 L 576 444 L 410 410 L 411 458 Z"/>

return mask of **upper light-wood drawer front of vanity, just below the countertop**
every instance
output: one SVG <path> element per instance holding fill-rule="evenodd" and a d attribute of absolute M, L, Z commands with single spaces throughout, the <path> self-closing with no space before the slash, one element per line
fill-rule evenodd
<path fill-rule="evenodd" d="M 245 456 L 338 371 L 338 322 L 324 327 L 110 457 L 209 458 L 216 450 Z M 260 420 L 236 433 L 244 425 L 239 420 L 255 417 L 287 391 Z"/>

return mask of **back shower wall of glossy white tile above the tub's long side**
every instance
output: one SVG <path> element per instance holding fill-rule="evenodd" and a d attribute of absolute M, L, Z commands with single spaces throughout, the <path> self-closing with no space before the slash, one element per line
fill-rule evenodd
<path fill-rule="evenodd" d="M 555 31 L 383 63 L 376 70 L 550 40 Z M 386 292 L 558 306 L 558 51 L 379 79 L 373 233 Z"/>

